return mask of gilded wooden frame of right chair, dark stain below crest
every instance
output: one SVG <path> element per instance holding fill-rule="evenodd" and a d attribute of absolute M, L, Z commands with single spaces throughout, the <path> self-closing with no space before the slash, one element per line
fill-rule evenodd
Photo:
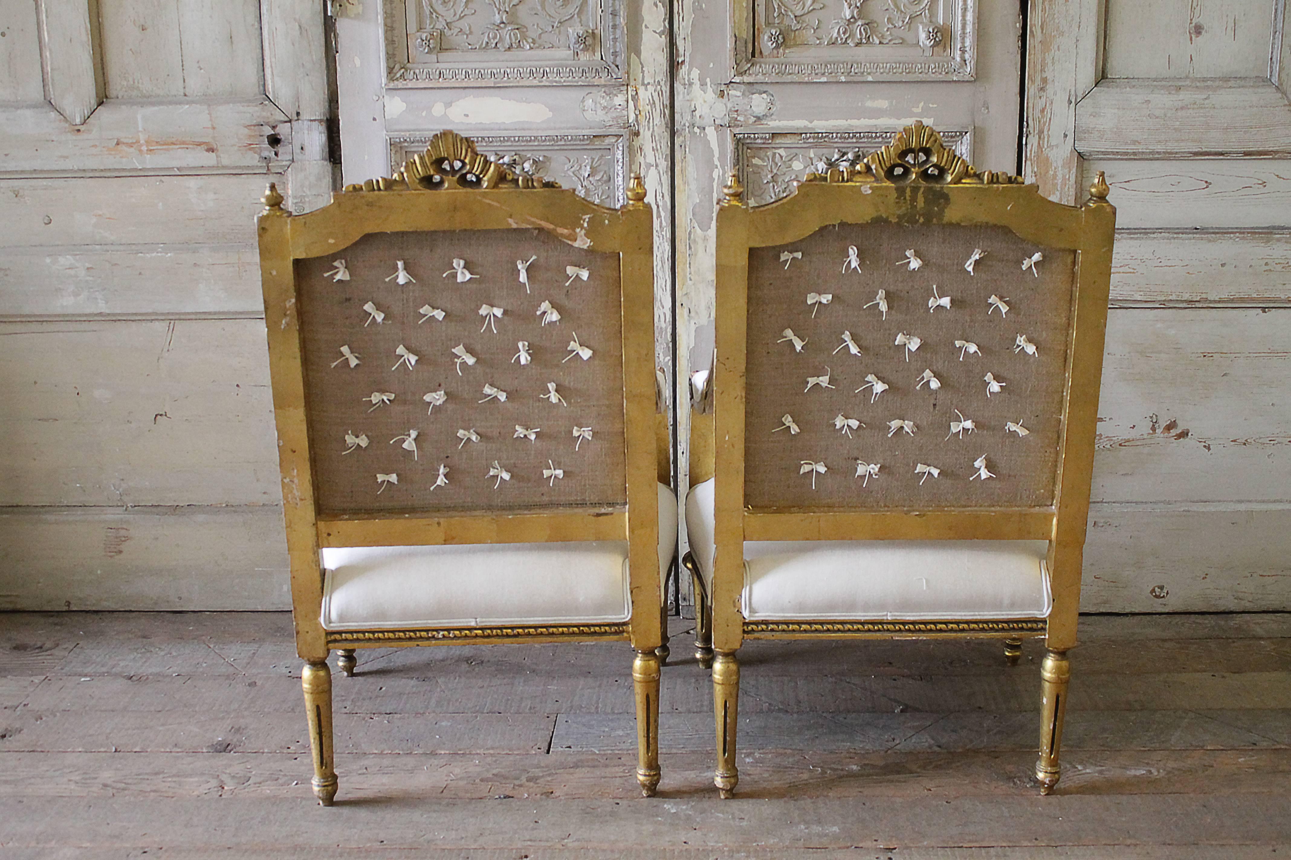
<path fill-rule="evenodd" d="M 686 566 L 697 581 L 697 650 L 711 659 L 717 719 L 714 783 L 729 797 L 738 781 L 736 726 L 740 669 L 736 654 L 745 638 L 931 638 L 991 637 L 1004 640 L 1008 663 L 1021 655 L 1024 637 L 1044 637 L 1041 744 L 1035 777 L 1048 794 L 1059 781 L 1059 752 L 1070 678 L 1068 651 L 1077 643 L 1081 566 L 1088 518 L 1090 481 L 1103 370 L 1104 331 L 1112 269 L 1115 210 L 1108 204 L 1108 184 L 1100 171 L 1082 206 L 1046 200 L 1034 184 L 1004 173 L 979 171 L 946 148 L 940 135 L 922 122 L 897 134 L 892 143 L 852 168 L 809 174 L 794 195 L 767 206 L 750 208 L 732 177 L 723 187 L 717 226 L 717 362 L 714 366 L 711 463 L 692 468 L 715 476 L 713 579 L 702 587 L 695 560 Z M 745 502 L 746 409 L 754 386 L 747 331 L 750 251 L 799 242 L 833 226 L 902 224 L 941 230 L 945 224 L 1004 227 L 1037 246 L 1061 251 L 1074 260 L 1070 280 L 1070 321 L 1066 327 L 1061 415 L 1056 431 L 1059 458 L 1050 477 L 1053 503 L 1041 507 L 866 508 L 856 503 L 830 508 L 753 509 Z M 914 233 L 911 244 L 918 245 Z M 1059 255 L 1059 254 L 1055 254 Z M 891 260 L 884 260 L 891 263 Z M 1055 264 L 1050 262 L 1047 264 Z M 816 289 L 815 286 L 812 289 Z M 1022 289 L 1022 288 L 1019 288 Z M 1055 344 L 1057 348 L 1057 344 Z M 914 365 L 911 365 L 913 367 Z M 702 446 L 700 446 L 702 447 Z M 692 473 L 691 484 L 696 482 Z M 936 540 L 998 539 L 1048 542 L 1047 570 L 1053 597 L 1047 618 L 932 621 L 900 620 L 745 620 L 741 594 L 746 540 Z"/>

